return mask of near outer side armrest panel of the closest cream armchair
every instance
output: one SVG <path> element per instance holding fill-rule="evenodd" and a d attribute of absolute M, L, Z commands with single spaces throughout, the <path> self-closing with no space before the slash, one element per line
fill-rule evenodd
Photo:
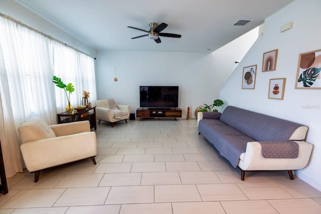
<path fill-rule="evenodd" d="M 93 157 L 97 154 L 95 132 L 30 141 L 20 146 L 27 169 L 31 172 Z"/>

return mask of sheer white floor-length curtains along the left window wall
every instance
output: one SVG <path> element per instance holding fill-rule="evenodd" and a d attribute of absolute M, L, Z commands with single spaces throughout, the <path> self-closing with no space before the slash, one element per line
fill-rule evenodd
<path fill-rule="evenodd" d="M 67 105 L 64 90 L 53 76 L 71 82 L 72 105 L 81 104 L 82 90 L 96 101 L 93 58 L 49 39 L 0 13 L 0 124 L 7 177 L 22 171 L 17 128 L 32 116 L 55 124 Z"/>

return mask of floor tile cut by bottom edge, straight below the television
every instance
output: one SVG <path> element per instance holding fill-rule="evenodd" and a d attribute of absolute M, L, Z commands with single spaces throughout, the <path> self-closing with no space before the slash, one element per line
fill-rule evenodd
<path fill-rule="evenodd" d="M 173 214 L 171 203 L 123 204 L 119 214 Z"/>

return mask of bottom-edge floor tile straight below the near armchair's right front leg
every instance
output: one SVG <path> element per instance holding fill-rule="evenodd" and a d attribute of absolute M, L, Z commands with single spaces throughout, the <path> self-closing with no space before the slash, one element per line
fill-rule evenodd
<path fill-rule="evenodd" d="M 119 205 L 71 206 L 66 214 L 118 214 Z"/>

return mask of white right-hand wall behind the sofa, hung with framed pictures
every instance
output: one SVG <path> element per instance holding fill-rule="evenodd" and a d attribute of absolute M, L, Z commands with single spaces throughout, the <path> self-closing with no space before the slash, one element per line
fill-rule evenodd
<path fill-rule="evenodd" d="M 297 0 L 265 20 L 264 34 L 220 91 L 229 105 L 284 118 L 309 127 L 306 141 L 314 144 L 308 166 L 296 175 L 321 190 L 321 90 L 294 89 L 300 53 L 321 49 L 321 1 Z M 293 28 L 280 33 L 280 26 Z M 278 49 L 276 71 L 261 72 L 263 53 Z M 242 90 L 242 68 L 257 64 L 255 90 Z M 284 100 L 268 99 L 269 79 L 286 78 Z"/>

